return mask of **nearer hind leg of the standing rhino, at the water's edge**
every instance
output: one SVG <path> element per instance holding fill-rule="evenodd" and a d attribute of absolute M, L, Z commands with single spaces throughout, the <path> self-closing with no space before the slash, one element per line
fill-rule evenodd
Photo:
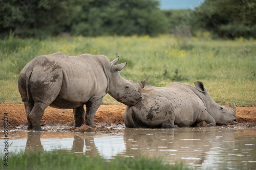
<path fill-rule="evenodd" d="M 41 118 L 44 115 L 45 109 L 48 105 L 41 103 L 41 102 L 35 102 L 34 107 L 29 113 L 28 117 L 30 119 L 30 122 L 32 124 L 32 130 L 34 131 L 41 131 Z"/>

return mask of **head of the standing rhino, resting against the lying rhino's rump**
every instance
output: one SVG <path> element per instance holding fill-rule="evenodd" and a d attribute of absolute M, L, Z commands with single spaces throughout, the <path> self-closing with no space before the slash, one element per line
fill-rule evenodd
<path fill-rule="evenodd" d="M 147 76 L 143 81 L 138 83 L 134 83 L 132 80 L 125 80 L 121 77 L 119 71 L 123 69 L 127 62 L 114 65 L 118 62 L 118 60 L 119 57 L 111 62 L 108 93 L 118 102 L 121 102 L 127 106 L 135 105 L 141 101 L 141 89 L 144 88 L 150 76 Z"/>

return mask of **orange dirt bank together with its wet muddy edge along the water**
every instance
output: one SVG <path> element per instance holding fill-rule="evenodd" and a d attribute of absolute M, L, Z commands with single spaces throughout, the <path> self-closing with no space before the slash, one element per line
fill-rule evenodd
<path fill-rule="evenodd" d="M 226 108 L 231 106 L 223 105 Z M 86 109 L 86 108 L 85 108 Z M 123 113 L 125 105 L 101 105 L 94 118 L 94 127 L 83 125 L 74 126 L 73 109 L 55 109 L 48 107 L 41 119 L 44 130 L 70 131 L 70 132 L 96 132 L 117 134 L 124 129 Z M 27 117 L 23 104 L 0 104 L 0 129 L 4 129 L 4 113 L 8 113 L 9 130 L 26 130 Z M 238 124 L 226 127 L 252 128 L 256 127 L 256 106 L 237 106 L 236 118 Z"/>

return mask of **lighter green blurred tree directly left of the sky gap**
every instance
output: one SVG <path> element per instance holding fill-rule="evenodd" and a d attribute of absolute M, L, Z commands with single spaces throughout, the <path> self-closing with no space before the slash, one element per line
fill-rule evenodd
<path fill-rule="evenodd" d="M 101 1 L 82 6 L 80 17 L 72 25 L 73 34 L 156 36 L 167 30 L 167 20 L 158 8 L 158 1 Z"/>

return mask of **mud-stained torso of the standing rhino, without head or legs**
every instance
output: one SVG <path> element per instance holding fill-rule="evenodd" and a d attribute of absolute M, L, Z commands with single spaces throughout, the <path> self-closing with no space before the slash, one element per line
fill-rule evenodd
<path fill-rule="evenodd" d="M 67 56 L 55 53 L 38 56 L 33 62 L 30 78 L 33 98 L 44 101 L 55 96 L 50 106 L 74 108 L 106 94 L 108 80 L 107 57 L 81 55 Z M 38 91 L 39 90 L 39 91 Z"/>

